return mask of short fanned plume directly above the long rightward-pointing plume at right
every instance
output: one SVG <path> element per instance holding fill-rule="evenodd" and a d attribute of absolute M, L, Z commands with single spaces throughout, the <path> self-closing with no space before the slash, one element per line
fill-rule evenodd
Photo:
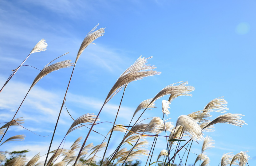
<path fill-rule="evenodd" d="M 215 98 L 212 101 L 210 101 L 203 109 L 203 111 L 210 111 L 210 112 L 220 112 L 220 113 L 225 113 L 226 110 L 228 110 L 227 106 L 227 101 L 224 100 L 223 96 L 219 98 Z"/>

